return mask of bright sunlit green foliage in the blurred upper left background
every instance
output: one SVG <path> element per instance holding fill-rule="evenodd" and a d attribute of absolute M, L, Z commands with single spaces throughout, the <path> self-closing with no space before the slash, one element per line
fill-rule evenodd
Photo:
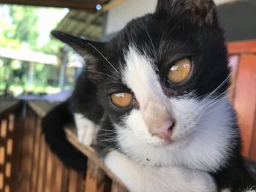
<path fill-rule="evenodd" d="M 44 8 L 46 9 L 46 8 Z M 53 11 L 59 9 L 52 9 Z M 46 38 L 40 42 L 42 26 L 41 7 L 25 7 L 16 5 L 0 5 L 0 47 L 34 50 L 46 54 L 57 54 L 61 43 L 55 39 Z M 58 14 L 58 12 L 56 12 Z M 55 25 L 57 25 L 56 21 Z M 54 26 L 53 26 L 54 27 Z M 0 95 L 8 85 L 10 90 L 18 95 L 24 91 L 42 93 L 54 92 L 58 82 L 58 69 L 56 66 L 34 64 L 34 80 L 28 85 L 29 64 L 26 61 L 13 61 L 8 58 L 0 58 Z M 54 77 L 54 78 L 53 78 Z M 50 86 L 51 82 L 54 86 Z"/>

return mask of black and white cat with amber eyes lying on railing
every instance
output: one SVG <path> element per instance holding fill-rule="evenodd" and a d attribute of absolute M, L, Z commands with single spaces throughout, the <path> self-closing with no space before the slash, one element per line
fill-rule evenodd
<path fill-rule="evenodd" d="M 64 164 L 86 157 L 67 141 L 94 147 L 130 191 L 255 191 L 246 172 L 236 112 L 227 100 L 230 70 L 212 0 L 159 0 L 110 42 L 58 31 L 86 61 L 75 91 L 42 121 Z"/>

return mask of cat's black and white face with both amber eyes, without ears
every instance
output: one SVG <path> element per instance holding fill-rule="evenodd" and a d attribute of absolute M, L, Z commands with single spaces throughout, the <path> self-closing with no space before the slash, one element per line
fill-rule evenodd
<path fill-rule="evenodd" d="M 99 98 L 116 128 L 124 137 L 159 146 L 192 137 L 210 102 L 203 98 L 228 76 L 216 15 L 200 23 L 188 12 L 176 12 L 181 4 L 161 6 L 132 20 L 105 45 L 108 61 L 98 68 L 110 76 L 103 75 Z M 226 88 L 227 83 L 213 97 Z"/>

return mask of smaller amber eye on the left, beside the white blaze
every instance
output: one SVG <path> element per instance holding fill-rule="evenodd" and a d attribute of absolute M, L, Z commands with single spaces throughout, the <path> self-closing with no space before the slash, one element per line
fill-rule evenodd
<path fill-rule="evenodd" d="M 131 93 L 113 93 L 110 98 L 116 107 L 127 107 L 129 104 L 132 104 Z"/>

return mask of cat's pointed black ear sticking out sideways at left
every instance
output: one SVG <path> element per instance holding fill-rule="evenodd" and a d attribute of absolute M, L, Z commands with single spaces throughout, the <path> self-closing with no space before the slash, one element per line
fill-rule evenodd
<path fill-rule="evenodd" d="M 72 47 L 89 65 L 95 64 L 104 50 L 104 43 L 102 42 L 92 42 L 61 31 L 52 31 L 51 34 L 56 39 Z"/>

